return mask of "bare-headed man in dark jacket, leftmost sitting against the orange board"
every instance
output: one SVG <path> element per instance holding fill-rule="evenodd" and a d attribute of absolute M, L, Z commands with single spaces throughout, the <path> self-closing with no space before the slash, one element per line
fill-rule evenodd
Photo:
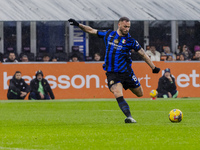
<path fill-rule="evenodd" d="M 30 92 L 29 85 L 22 79 L 20 71 L 16 71 L 13 78 L 10 80 L 7 93 L 8 99 L 24 99 Z"/>

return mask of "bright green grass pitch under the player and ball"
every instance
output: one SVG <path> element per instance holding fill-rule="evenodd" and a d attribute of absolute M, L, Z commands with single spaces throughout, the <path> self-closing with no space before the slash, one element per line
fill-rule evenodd
<path fill-rule="evenodd" d="M 124 123 L 114 99 L 0 101 L 0 149 L 200 149 L 200 98 L 127 102 L 135 124 Z M 174 108 L 180 123 L 168 119 Z"/>

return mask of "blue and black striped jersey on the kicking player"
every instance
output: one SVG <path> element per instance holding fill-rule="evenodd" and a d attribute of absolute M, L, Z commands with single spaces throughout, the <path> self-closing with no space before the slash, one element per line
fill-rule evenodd
<path fill-rule="evenodd" d="M 103 69 L 107 72 L 132 72 L 130 52 L 131 49 L 140 50 L 140 44 L 129 33 L 119 36 L 117 31 L 108 30 L 98 31 L 97 35 L 104 39 L 106 45 Z"/>

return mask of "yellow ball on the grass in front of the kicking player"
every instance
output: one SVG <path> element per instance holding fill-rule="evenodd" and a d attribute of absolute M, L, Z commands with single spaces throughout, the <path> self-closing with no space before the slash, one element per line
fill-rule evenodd
<path fill-rule="evenodd" d="M 183 113 L 179 109 L 173 109 L 169 112 L 169 120 L 171 122 L 181 122 Z"/>

